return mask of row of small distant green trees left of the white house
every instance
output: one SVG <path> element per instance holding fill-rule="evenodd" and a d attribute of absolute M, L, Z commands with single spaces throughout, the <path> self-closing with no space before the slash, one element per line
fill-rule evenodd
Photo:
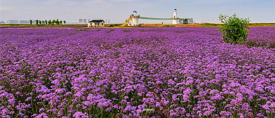
<path fill-rule="evenodd" d="M 35 25 L 66 25 L 66 20 L 35 20 Z M 30 25 L 32 25 L 32 20 L 30 20 Z"/>

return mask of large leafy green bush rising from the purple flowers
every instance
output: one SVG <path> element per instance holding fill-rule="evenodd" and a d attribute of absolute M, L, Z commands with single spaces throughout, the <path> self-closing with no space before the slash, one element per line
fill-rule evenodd
<path fill-rule="evenodd" d="M 246 42 L 249 18 L 238 18 L 234 13 L 231 17 L 219 15 L 219 20 L 224 23 L 219 28 L 219 32 L 222 32 L 222 39 L 225 43 L 243 44 Z"/>

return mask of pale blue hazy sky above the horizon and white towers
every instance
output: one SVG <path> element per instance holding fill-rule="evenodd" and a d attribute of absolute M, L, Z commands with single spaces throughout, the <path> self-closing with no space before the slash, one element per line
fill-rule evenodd
<path fill-rule="evenodd" d="M 0 0 L 0 20 L 110 19 L 122 23 L 133 11 L 140 16 L 179 18 L 194 22 L 219 22 L 219 14 L 250 18 L 251 22 L 275 23 L 275 0 Z M 172 22 L 140 20 L 140 23 Z"/>

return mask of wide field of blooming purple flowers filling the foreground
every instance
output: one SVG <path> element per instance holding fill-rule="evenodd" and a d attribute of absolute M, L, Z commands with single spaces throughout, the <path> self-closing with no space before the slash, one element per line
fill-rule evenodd
<path fill-rule="evenodd" d="M 1 29 L 0 115 L 274 117 L 274 60 L 217 28 Z"/>

